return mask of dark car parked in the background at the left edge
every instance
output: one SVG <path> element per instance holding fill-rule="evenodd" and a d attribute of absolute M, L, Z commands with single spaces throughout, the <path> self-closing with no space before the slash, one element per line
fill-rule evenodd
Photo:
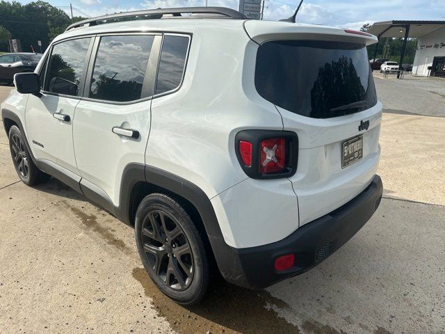
<path fill-rule="evenodd" d="M 40 58 L 42 58 L 42 54 L 33 54 L 32 52 L 2 54 L 0 56 L 0 81 L 12 84 L 15 73 L 34 72 Z"/>

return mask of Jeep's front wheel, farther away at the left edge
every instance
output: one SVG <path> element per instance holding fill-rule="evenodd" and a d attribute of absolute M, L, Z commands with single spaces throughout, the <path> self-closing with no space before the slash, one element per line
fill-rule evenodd
<path fill-rule="evenodd" d="M 35 166 L 31 152 L 26 148 L 25 138 L 16 125 L 9 129 L 8 138 L 11 157 L 20 180 L 29 186 L 47 182 L 51 176 Z"/>

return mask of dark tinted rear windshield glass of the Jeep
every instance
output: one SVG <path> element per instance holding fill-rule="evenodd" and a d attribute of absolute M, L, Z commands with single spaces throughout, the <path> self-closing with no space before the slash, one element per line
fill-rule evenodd
<path fill-rule="evenodd" d="M 293 113 L 331 118 L 377 103 L 364 45 L 341 42 L 273 41 L 257 53 L 259 95 Z"/>

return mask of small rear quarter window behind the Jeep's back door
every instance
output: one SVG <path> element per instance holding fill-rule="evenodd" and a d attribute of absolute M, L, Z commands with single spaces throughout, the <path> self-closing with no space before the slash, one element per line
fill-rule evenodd
<path fill-rule="evenodd" d="M 188 37 L 165 35 L 159 61 L 156 94 L 179 87 L 184 75 L 188 51 Z"/>

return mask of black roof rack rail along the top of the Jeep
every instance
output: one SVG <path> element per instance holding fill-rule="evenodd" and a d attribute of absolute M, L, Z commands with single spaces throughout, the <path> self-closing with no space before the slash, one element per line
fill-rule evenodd
<path fill-rule="evenodd" d="M 248 19 L 248 17 L 239 13 L 238 10 L 225 7 L 158 8 L 150 10 L 134 10 L 132 12 L 124 12 L 124 13 L 92 17 L 90 19 L 83 19 L 82 21 L 75 22 L 70 26 L 68 26 L 67 29 L 65 29 L 65 32 L 74 28 L 86 26 L 87 24 L 88 26 L 95 26 L 97 24 L 116 22 L 114 21 L 115 19 L 119 21 L 120 19 L 123 19 L 122 21 L 125 21 L 124 18 L 130 18 L 130 17 L 143 17 L 143 19 L 161 19 L 163 15 L 172 15 L 173 17 L 184 17 L 184 18 L 190 17 L 181 15 L 185 13 L 191 14 L 192 17 L 193 14 L 198 14 L 195 15 L 195 17 L 198 16 L 200 18 Z M 111 22 L 106 22 L 108 20 L 111 20 Z"/>

